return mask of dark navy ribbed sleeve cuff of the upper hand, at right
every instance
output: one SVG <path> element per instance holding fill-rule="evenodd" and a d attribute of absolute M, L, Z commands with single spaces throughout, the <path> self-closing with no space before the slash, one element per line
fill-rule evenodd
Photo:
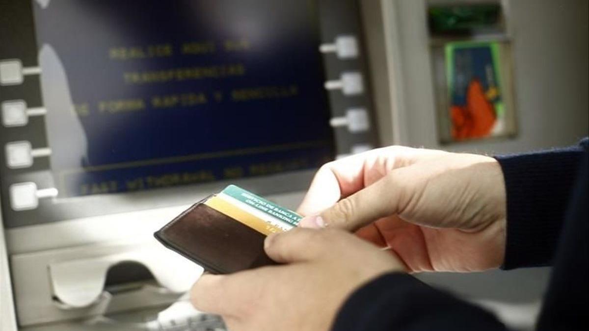
<path fill-rule="evenodd" d="M 572 147 L 495 157 L 507 191 L 502 269 L 552 263 L 587 138 Z"/>

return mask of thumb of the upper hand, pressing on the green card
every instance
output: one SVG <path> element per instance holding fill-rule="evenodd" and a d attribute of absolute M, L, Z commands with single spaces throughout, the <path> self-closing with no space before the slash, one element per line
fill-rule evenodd
<path fill-rule="evenodd" d="M 363 188 L 349 197 L 339 200 L 332 207 L 315 216 L 305 217 L 301 227 L 335 227 L 355 231 L 381 217 L 399 213 L 402 194 L 405 190 L 393 171 L 376 183 Z"/>

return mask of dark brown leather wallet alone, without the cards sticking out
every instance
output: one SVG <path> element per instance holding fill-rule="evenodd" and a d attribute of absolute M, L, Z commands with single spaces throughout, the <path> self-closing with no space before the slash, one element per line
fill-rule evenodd
<path fill-rule="evenodd" d="M 214 274 L 276 264 L 264 252 L 264 234 L 204 204 L 209 198 L 155 232 L 155 238 Z"/>

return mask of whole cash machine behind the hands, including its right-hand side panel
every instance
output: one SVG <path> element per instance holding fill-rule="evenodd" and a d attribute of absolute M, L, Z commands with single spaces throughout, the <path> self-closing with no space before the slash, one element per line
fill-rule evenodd
<path fill-rule="evenodd" d="M 575 143 L 586 14 L 574 0 L 3 1 L 0 329 L 224 330 L 188 302 L 201 267 L 153 239 L 194 201 L 237 184 L 296 208 L 321 164 L 380 145 Z M 456 59 L 481 52 L 494 121 L 468 131 L 456 91 L 477 68 Z M 419 277 L 526 329 L 549 271 Z"/>

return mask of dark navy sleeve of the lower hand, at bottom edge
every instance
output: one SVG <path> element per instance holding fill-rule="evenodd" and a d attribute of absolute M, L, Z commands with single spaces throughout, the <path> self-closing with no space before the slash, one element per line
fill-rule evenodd
<path fill-rule="evenodd" d="M 360 287 L 340 309 L 334 331 L 505 330 L 491 313 L 408 274 L 390 273 Z"/>

